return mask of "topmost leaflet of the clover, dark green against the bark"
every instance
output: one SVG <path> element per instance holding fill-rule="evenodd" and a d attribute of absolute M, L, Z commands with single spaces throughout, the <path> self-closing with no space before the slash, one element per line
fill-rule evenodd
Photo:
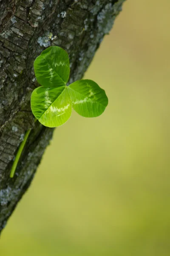
<path fill-rule="evenodd" d="M 34 72 L 44 87 L 64 86 L 70 74 L 68 53 L 57 46 L 48 47 L 34 61 Z"/>

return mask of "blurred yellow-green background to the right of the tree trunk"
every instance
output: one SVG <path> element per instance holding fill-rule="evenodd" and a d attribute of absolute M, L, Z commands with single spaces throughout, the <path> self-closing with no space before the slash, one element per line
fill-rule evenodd
<path fill-rule="evenodd" d="M 169 27 L 169 0 L 125 2 L 85 75 L 108 108 L 56 129 L 0 255 L 170 255 Z"/>

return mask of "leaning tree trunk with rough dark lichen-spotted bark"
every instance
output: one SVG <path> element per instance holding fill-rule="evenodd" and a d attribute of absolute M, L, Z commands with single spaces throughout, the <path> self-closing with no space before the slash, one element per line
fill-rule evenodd
<path fill-rule="evenodd" d="M 34 124 L 33 62 L 43 49 L 68 51 L 70 83 L 81 79 L 125 0 L 0 0 L 0 231 L 34 177 L 54 129 Z M 10 169 L 32 128 L 13 179 Z"/>

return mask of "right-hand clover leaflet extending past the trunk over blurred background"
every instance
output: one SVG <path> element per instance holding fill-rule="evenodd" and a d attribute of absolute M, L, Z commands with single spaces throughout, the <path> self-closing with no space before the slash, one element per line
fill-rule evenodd
<path fill-rule="evenodd" d="M 70 84 L 69 93 L 74 110 L 81 116 L 101 115 L 108 105 L 105 90 L 92 80 L 79 80 Z"/>

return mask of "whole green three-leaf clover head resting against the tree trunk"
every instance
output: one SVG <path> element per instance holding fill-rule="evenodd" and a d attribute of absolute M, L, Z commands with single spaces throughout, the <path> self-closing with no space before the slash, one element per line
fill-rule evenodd
<path fill-rule="evenodd" d="M 45 49 L 34 61 L 34 72 L 41 86 L 32 92 L 31 110 L 42 125 L 63 125 L 72 108 L 81 116 L 99 116 L 108 105 L 105 91 L 92 80 L 66 85 L 70 63 L 68 53 L 60 47 Z"/>

